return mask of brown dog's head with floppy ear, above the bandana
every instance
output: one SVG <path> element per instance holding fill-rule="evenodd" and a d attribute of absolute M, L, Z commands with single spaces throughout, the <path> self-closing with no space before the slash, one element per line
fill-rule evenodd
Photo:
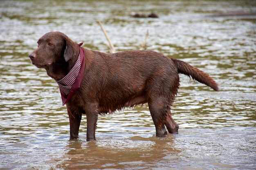
<path fill-rule="evenodd" d="M 46 33 L 37 43 L 38 48 L 29 55 L 29 58 L 38 68 L 47 70 L 56 64 L 69 62 L 79 54 L 79 44 L 61 32 Z"/>

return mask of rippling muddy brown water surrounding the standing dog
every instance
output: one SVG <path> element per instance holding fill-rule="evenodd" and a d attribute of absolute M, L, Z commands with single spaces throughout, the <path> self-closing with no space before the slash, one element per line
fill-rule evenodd
<path fill-rule="evenodd" d="M 126 5 L 159 18 L 130 18 Z M 0 169 L 255 169 L 255 11 L 251 0 L 1 0 Z M 240 14 L 219 15 L 231 12 Z M 155 137 L 144 105 L 99 116 L 97 141 L 86 141 L 83 117 L 70 140 L 58 86 L 28 55 L 49 31 L 107 51 L 97 20 L 117 51 L 139 49 L 148 29 L 149 50 L 209 73 L 220 92 L 181 75 L 172 109 L 179 134 Z"/>

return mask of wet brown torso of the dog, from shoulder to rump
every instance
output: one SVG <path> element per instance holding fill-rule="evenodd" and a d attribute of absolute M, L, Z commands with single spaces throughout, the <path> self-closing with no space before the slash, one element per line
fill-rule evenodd
<path fill-rule="evenodd" d="M 85 81 L 94 87 L 90 92 L 99 88 L 94 94 L 101 112 L 144 104 L 157 95 L 176 95 L 179 75 L 168 57 L 154 51 L 93 52 Z"/>

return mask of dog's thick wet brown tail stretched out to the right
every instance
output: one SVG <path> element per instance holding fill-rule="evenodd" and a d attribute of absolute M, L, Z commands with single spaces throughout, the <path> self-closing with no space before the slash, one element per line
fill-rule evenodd
<path fill-rule="evenodd" d="M 184 61 L 175 58 L 171 58 L 171 60 L 173 60 L 179 73 L 189 77 L 191 76 L 194 80 L 213 88 L 215 91 L 219 91 L 218 84 L 207 73 L 204 73 Z"/>

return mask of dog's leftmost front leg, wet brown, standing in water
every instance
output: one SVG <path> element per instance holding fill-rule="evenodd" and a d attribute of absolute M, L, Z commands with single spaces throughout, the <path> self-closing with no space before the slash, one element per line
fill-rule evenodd
<path fill-rule="evenodd" d="M 70 119 L 70 138 L 74 139 L 78 137 L 82 114 L 78 112 L 72 112 L 72 110 L 69 108 L 67 108 L 67 113 Z"/>

